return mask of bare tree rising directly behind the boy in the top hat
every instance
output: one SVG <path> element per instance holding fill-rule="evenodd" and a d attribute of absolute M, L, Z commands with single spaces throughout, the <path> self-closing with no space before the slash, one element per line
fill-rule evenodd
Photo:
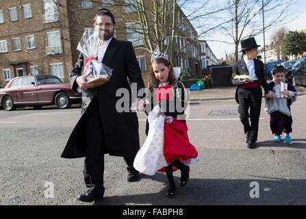
<path fill-rule="evenodd" d="M 262 4 L 263 3 L 263 4 Z M 238 61 L 238 46 L 244 38 L 262 34 L 264 8 L 265 31 L 285 23 L 290 19 L 289 8 L 294 1 L 291 0 L 228 0 L 227 14 L 231 22 L 222 27 L 227 36 L 230 36 L 235 45 L 235 62 Z M 231 6 L 232 5 L 232 6 Z"/>

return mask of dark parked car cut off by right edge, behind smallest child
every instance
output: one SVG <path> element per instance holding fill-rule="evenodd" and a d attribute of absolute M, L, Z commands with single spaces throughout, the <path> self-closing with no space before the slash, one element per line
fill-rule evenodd
<path fill-rule="evenodd" d="M 306 86 L 306 57 L 297 60 L 292 67 L 292 83 L 294 85 Z"/>

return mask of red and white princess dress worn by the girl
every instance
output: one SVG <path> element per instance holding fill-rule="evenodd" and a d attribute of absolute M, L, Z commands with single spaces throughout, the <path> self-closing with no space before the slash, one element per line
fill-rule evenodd
<path fill-rule="evenodd" d="M 185 96 L 186 90 L 183 83 L 176 82 L 175 88 L 173 85 L 168 85 L 154 89 L 155 102 L 166 101 L 171 104 L 175 102 L 174 99 L 183 101 L 180 97 Z M 181 88 L 181 92 L 178 92 L 177 88 Z M 176 159 L 179 159 L 183 164 L 192 164 L 199 160 L 198 152 L 189 142 L 186 120 L 180 119 L 176 110 L 175 108 L 175 112 L 170 113 L 167 110 L 162 110 L 161 105 L 157 104 L 149 113 L 148 137 L 138 151 L 133 164 L 139 172 L 155 175 L 156 171 L 165 172 L 164 167 Z M 159 116 L 161 111 L 164 112 L 164 115 Z M 177 168 L 173 166 L 173 171 L 175 170 Z"/>

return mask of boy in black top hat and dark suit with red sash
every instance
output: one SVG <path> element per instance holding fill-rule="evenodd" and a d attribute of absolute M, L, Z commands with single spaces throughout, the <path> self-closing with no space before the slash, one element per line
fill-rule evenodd
<path fill-rule="evenodd" d="M 247 38 L 241 41 L 242 59 L 233 65 L 231 83 L 237 86 L 235 100 L 239 104 L 238 112 L 244 126 L 244 140 L 248 148 L 255 148 L 257 141 L 260 109 L 262 107 L 262 86 L 265 94 L 272 96 L 272 92 L 264 74 L 264 64 L 257 60 L 257 45 L 255 38 Z M 236 75 L 249 75 L 247 78 L 234 79 Z M 250 112 L 248 113 L 248 110 Z M 251 119 L 251 124 L 248 121 Z"/>

